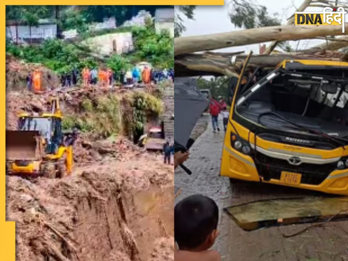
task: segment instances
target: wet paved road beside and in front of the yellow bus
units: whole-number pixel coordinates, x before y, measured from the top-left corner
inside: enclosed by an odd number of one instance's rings
[[[220,209],[220,235],[213,248],[220,252],[223,261],[348,261],[348,221],[330,222],[290,238],[282,234],[294,234],[311,224],[250,232],[239,228],[223,212],[224,207],[259,199],[299,197],[314,193],[253,182],[231,183],[227,177],[219,176],[224,132],[213,133],[209,117],[202,120],[209,121],[208,128],[192,146],[190,159],[185,163],[192,175],[187,175],[180,168],[175,171],[175,186],[182,189],[175,202],[195,193],[215,200]]]

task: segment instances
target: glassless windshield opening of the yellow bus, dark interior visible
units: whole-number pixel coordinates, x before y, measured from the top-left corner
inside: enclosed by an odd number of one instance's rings
[[[251,88],[239,95],[236,113],[255,124],[260,124],[263,114],[261,125],[271,129],[294,131],[291,122],[296,122],[332,137],[346,137],[348,78],[342,70],[340,76],[336,71],[332,73],[294,73],[280,68],[263,73]]]

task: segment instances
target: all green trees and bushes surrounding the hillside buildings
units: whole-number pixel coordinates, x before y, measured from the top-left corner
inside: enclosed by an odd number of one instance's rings
[[[113,55],[109,58],[96,60],[90,56],[91,50],[79,43],[69,43],[63,40],[46,40],[40,45],[20,46],[6,42],[6,52],[26,62],[41,63],[47,68],[65,73],[73,68],[84,66],[95,67],[105,64],[114,71],[127,70],[132,65],[147,61],[157,68],[172,68],[174,66],[173,39],[167,31],[159,34],[155,31],[152,21],[147,21],[145,27],[118,27],[97,32],[87,31],[91,22],[102,21],[104,17],[115,16],[118,23],[123,23],[136,14],[139,9],[151,11],[154,14],[158,7],[147,6],[6,6],[6,19],[26,21],[31,26],[38,24],[39,18],[56,17],[61,29],[78,29],[82,32],[81,40],[105,33],[132,32],[135,51],[126,55]]]

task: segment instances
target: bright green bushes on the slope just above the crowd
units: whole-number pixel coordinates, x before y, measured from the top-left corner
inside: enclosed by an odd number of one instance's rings
[[[127,70],[131,64],[148,61],[158,68],[174,65],[173,39],[168,32],[156,34],[153,26],[133,27],[135,51],[127,55],[113,55],[105,59],[114,71]],[[90,50],[63,40],[46,40],[40,45],[19,46],[6,42],[6,52],[30,63],[42,63],[47,68],[63,73],[72,68],[94,67],[98,61],[89,56]],[[99,62],[100,63],[100,62]]]

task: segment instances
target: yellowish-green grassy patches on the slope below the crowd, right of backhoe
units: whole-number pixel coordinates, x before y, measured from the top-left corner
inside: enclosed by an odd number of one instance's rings
[[[85,98],[80,103],[78,114],[63,118],[63,129],[77,127],[82,132],[93,133],[102,138],[117,135],[121,129],[124,134],[140,133],[141,135],[146,118],[157,117],[163,113],[161,100],[148,93],[129,93],[123,100],[125,102],[120,103],[119,97],[112,94],[93,100]],[[127,104],[132,109],[122,113]],[[125,121],[129,121],[129,129],[124,128]]]

